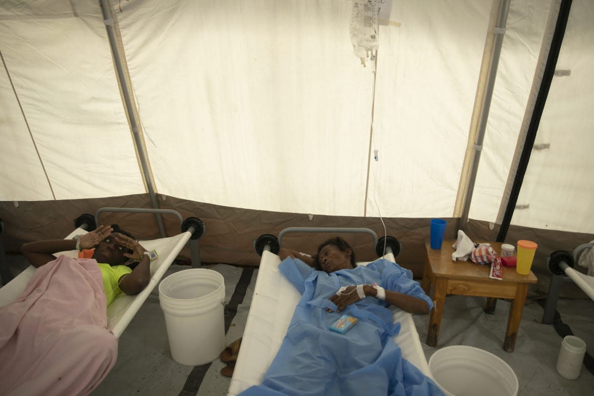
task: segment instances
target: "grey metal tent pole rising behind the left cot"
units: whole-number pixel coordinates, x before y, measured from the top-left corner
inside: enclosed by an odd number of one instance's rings
[[[124,104],[126,106],[126,111],[128,112],[130,128],[132,130],[132,135],[134,136],[134,146],[136,146],[138,158],[140,159],[140,165],[143,169],[144,181],[146,183],[147,190],[149,191],[150,203],[154,209],[159,209],[157,195],[154,192],[153,178],[149,172],[149,162],[147,161],[144,143],[140,136],[140,122],[138,122],[137,112],[135,111],[136,109],[132,100],[132,95],[128,89],[128,81],[126,72],[124,70],[124,62],[122,61],[122,57],[118,48],[118,37],[116,36],[114,21],[111,14],[111,5],[108,0],[100,0],[100,4],[101,12],[103,14],[103,23],[105,24],[105,29],[108,32],[109,48],[112,51],[113,63],[115,64],[119,86],[122,89],[122,97],[124,98]],[[167,235],[165,234],[165,225],[163,225],[163,218],[161,214],[155,213],[155,218],[157,220],[157,226],[159,227],[160,235],[162,238],[165,238]]]

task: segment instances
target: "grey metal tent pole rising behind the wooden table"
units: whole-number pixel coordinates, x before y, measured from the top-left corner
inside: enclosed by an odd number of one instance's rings
[[[464,206],[462,208],[462,215],[460,216],[460,230],[466,230],[468,222],[468,212],[470,211],[470,202],[472,201],[472,193],[475,189],[476,174],[479,169],[479,161],[481,161],[481,150],[483,140],[485,139],[486,122],[489,119],[489,109],[491,108],[491,98],[493,96],[493,89],[495,87],[495,78],[497,77],[497,67],[499,65],[499,58],[501,55],[501,45],[503,44],[503,35],[505,33],[505,24],[507,23],[507,14],[510,10],[510,0],[502,0],[499,7],[499,15],[497,17],[497,25],[495,26],[495,40],[492,49],[491,64],[489,64],[489,75],[486,82],[484,101],[481,109],[481,118],[479,120],[478,133],[476,134],[476,142],[474,146],[475,155],[472,159],[472,168],[470,169],[470,176],[468,186],[466,188],[466,196]]]

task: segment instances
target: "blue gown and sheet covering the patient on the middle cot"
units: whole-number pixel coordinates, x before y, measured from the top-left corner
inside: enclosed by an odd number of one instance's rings
[[[261,385],[242,396],[443,395],[435,382],[403,359],[391,337],[400,331],[392,323],[388,304],[366,297],[336,312],[328,298],[341,286],[373,284],[427,301],[412,272],[388,260],[326,274],[299,259],[287,257],[279,270],[292,282],[301,300],[295,307],[285,339]],[[329,307],[335,312],[326,312]],[[328,330],[342,315],[358,319],[345,334]]]

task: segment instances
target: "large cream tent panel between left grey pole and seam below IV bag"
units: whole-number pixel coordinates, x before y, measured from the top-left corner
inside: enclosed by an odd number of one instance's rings
[[[352,52],[350,4],[239,5],[122,4],[157,189],[239,208],[362,215],[372,74]]]

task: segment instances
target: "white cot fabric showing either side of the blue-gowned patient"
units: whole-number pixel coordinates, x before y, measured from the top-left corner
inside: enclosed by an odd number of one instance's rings
[[[394,262],[393,254],[386,259]],[[236,396],[264,378],[270,363],[285,338],[295,306],[301,294],[279,271],[280,257],[264,252],[252,297],[239,355],[233,370],[228,396]],[[393,340],[400,346],[402,356],[430,376],[429,365],[416,331],[412,315],[396,307],[391,308],[394,323],[400,322],[400,332]]]

